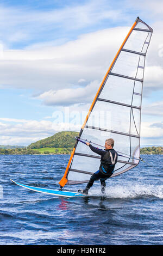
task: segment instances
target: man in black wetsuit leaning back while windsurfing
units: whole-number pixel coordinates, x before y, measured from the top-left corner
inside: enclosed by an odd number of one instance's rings
[[[94,173],[89,182],[87,183],[84,190],[79,190],[78,192],[82,192],[83,194],[88,194],[90,187],[93,185],[95,180],[101,181],[101,190],[102,193],[105,193],[105,180],[110,178],[112,173],[114,172],[115,164],[117,163],[117,153],[114,150],[114,139],[106,139],[105,141],[105,149],[98,149],[93,147],[89,142],[86,143],[90,149],[101,155],[101,164],[99,166],[99,170]]]

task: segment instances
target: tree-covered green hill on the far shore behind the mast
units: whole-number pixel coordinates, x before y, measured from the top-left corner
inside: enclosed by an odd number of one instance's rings
[[[62,148],[73,149],[76,142],[75,137],[78,136],[78,132],[58,132],[53,136],[41,139],[28,146],[28,149],[42,149],[42,148]]]

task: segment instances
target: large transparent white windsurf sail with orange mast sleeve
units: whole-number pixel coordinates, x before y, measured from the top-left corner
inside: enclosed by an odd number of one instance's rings
[[[153,29],[137,17],[92,102],[79,139],[104,145],[113,138],[120,152],[111,177],[139,164],[140,120],[145,58]],[[120,156],[123,155],[123,156]],[[124,157],[126,156],[126,157]],[[87,182],[101,157],[77,141],[59,184]]]

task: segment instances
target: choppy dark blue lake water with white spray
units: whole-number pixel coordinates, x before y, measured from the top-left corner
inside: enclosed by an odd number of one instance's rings
[[[99,181],[90,197],[62,198],[26,190],[23,184],[58,189],[68,155],[0,155],[0,245],[161,245],[162,155]],[[98,167],[97,167],[98,168]],[[77,191],[84,185],[67,186]]]

